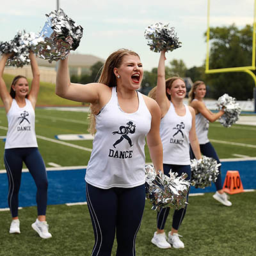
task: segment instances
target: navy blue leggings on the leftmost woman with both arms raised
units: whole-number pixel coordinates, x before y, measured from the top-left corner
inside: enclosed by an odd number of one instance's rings
[[[48,180],[44,160],[42,159],[38,148],[10,148],[4,150],[4,165],[8,175],[8,204],[12,217],[14,218],[18,216],[19,189],[23,162],[26,164],[35,180],[37,188],[37,213],[38,215],[45,215]]]

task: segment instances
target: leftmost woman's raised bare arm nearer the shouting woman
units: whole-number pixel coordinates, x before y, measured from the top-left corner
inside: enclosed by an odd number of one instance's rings
[[[36,100],[39,92],[39,87],[40,87],[40,72],[39,68],[36,62],[36,57],[33,52],[29,52],[29,59],[30,59],[30,65],[31,65],[31,70],[32,70],[32,83],[31,83],[31,88],[30,92],[28,95],[28,99],[31,101],[31,104],[33,108],[35,109],[36,106]]]

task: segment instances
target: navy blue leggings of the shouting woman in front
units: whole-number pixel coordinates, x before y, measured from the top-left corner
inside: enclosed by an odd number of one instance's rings
[[[136,235],[145,206],[145,184],[135,188],[100,189],[86,184],[86,198],[92,219],[95,244],[92,256],[133,256]]]

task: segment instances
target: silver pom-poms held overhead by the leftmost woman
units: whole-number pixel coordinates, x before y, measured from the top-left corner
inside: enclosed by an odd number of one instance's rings
[[[10,53],[13,55],[8,58],[6,65],[14,67],[23,67],[30,63],[29,52],[37,52],[37,45],[42,38],[36,33],[26,33],[25,30],[17,31],[14,38],[7,42],[0,43],[0,52]]]

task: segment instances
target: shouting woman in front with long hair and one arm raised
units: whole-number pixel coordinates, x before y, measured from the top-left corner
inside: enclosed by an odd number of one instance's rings
[[[85,177],[95,233],[92,255],[110,256],[115,232],[116,255],[135,255],[134,239],[145,205],[145,136],[156,170],[163,170],[161,111],[155,100],[137,91],[142,78],[140,57],[126,49],[108,57],[99,83],[70,83],[67,59],[58,68],[56,94],[90,102],[95,119]]]

